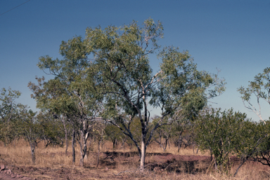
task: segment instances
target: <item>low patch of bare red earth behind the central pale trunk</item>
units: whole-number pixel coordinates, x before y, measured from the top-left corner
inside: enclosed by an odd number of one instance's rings
[[[139,166],[138,153],[103,153],[101,167],[112,167],[116,162],[122,165],[128,165],[136,162]],[[146,169],[151,172],[186,172],[195,174],[202,172],[209,167],[211,162],[210,156],[206,155],[174,155],[171,153],[147,153]],[[134,163],[135,164],[135,163]],[[200,164],[200,165],[199,165]],[[204,165],[202,167],[202,165]]]

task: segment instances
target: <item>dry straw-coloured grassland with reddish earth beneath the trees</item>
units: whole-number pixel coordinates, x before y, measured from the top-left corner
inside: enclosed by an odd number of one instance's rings
[[[76,147],[76,163],[72,164],[71,149],[49,146],[42,142],[36,151],[33,165],[30,146],[20,139],[8,146],[0,146],[0,164],[7,165],[14,173],[30,179],[270,179],[270,167],[259,162],[246,162],[236,177],[233,173],[239,162],[231,158],[227,172],[218,173],[210,166],[208,153],[194,153],[192,148],[178,149],[169,146],[162,151],[158,144],[150,144],[146,155],[146,172],[139,172],[139,155],[136,148],[113,149],[113,144],[105,141],[101,147],[97,167],[97,144],[91,144],[84,161],[79,167],[79,146]]]

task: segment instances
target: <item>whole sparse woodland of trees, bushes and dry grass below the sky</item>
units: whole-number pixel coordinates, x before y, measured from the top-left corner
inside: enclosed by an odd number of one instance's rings
[[[39,112],[16,102],[19,90],[1,90],[1,163],[33,179],[269,179],[260,102],[270,104],[270,68],[238,89],[261,118],[254,122],[213,109],[208,100],[222,95],[224,79],[199,71],[187,51],[161,47],[162,37],[152,19],[89,27],[84,39],[61,43],[63,59],[41,56],[37,66],[51,79],[28,84]],[[37,173],[20,170],[28,167]]]

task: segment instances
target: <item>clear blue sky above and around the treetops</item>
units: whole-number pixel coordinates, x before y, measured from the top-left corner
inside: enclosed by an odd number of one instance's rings
[[[23,94],[17,102],[37,110],[27,83],[36,82],[35,76],[45,76],[37,67],[39,57],[60,57],[61,41],[84,37],[86,27],[121,26],[132,20],[141,24],[151,17],[163,23],[162,46],[188,50],[200,70],[217,73],[216,68],[221,69],[226,92],[212,99],[217,103],[213,106],[233,107],[258,119],[245,109],[236,90],[240,85],[247,87],[248,81],[270,67],[269,0],[26,1],[0,0],[0,14],[4,13],[0,15],[0,88],[20,90]],[[151,64],[157,68],[155,59]],[[262,105],[266,119],[270,106]]]

